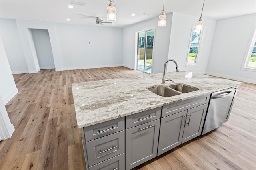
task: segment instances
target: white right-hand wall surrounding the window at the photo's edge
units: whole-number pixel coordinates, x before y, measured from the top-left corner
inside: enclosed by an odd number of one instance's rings
[[[255,71],[241,70],[255,22],[256,14],[217,21],[207,74],[256,83]]]

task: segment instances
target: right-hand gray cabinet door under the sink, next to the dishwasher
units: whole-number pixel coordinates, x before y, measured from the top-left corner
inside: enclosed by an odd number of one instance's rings
[[[185,143],[192,138],[200,136],[204,124],[207,107],[208,103],[198,107],[194,107],[192,109],[188,109],[182,143]]]

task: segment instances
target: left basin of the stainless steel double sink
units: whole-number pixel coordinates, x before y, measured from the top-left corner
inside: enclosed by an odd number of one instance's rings
[[[182,93],[179,93],[178,91],[174,91],[168,87],[163,86],[157,86],[157,87],[149,87],[147,88],[149,91],[163,97],[171,97],[175,95],[180,95]]]

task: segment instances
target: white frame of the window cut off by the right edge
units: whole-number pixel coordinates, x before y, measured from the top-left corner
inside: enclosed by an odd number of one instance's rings
[[[252,29],[252,33],[247,45],[246,53],[244,55],[244,60],[242,62],[241,70],[256,71],[256,67],[248,66],[250,62],[250,57],[252,55],[252,50],[254,47],[256,47],[255,42],[256,42],[256,22],[254,23],[254,26]]]

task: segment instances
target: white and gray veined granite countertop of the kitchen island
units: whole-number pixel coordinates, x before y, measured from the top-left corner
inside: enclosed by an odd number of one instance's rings
[[[187,72],[165,74],[164,86],[184,83],[199,90],[172,97],[158,96],[147,87],[162,85],[162,73],[72,84],[78,128],[132,115],[242,84],[238,81]]]

